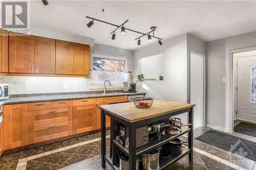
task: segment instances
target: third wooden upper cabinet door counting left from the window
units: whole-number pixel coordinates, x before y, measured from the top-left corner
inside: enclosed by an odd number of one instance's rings
[[[35,37],[34,73],[55,74],[55,41]]]

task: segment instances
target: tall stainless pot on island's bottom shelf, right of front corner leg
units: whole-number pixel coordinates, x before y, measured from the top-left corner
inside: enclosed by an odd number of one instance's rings
[[[146,170],[159,169],[159,155],[160,150],[154,149],[146,154],[143,154],[143,168]]]

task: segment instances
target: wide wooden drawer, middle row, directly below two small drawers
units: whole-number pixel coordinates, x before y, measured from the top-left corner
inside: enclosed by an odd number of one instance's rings
[[[29,127],[72,120],[72,107],[29,111]]]

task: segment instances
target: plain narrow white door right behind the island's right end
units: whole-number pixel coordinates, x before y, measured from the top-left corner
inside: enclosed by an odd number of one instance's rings
[[[204,57],[191,53],[190,58],[190,103],[194,107],[194,127],[203,126],[204,110]]]

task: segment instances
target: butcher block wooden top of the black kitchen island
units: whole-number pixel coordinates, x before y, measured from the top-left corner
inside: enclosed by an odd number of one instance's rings
[[[179,103],[165,100],[154,100],[151,108],[136,108],[133,102],[120,103],[115,105],[99,106],[102,110],[113,114],[126,122],[134,123],[140,120],[157,117],[167,113],[172,113],[188,108],[195,107],[195,104]]]

